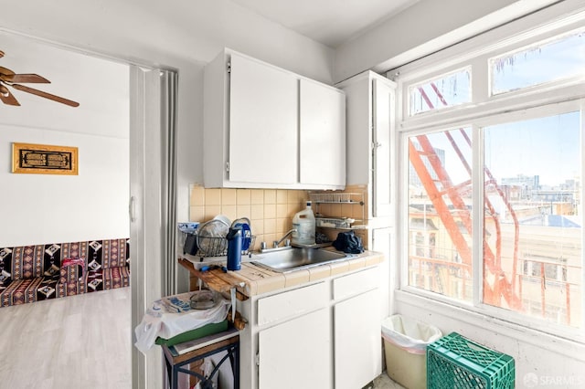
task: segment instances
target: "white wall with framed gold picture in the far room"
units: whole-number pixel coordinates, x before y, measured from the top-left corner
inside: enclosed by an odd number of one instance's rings
[[[80,102],[71,108],[13,90],[0,104],[0,247],[129,237],[128,66],[0,33],[1,65],[38,73],[31,87]],[[79,174],[11,173],[12,142],[79,148]]]

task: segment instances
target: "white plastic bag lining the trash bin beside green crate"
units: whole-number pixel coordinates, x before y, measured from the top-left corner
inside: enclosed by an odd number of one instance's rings
[[[393,315],[382,321],[382,337],[413,354],[425,353],[427,345],[441,336],[442,332],[437,327],[402,315]]]

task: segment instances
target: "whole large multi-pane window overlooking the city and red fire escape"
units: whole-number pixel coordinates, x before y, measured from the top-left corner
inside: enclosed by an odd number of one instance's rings
[[[583,39],[560,28],[444,65],[458,70],[401,69],[403,289],[584,327]]]

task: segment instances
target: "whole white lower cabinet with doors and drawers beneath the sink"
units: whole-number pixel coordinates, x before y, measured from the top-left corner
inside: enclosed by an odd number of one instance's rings
[[[356,389],[382,371],[379,266],[252,296],[241,388]]]

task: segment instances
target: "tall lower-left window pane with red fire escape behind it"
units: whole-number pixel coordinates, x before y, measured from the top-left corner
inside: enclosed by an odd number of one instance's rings
[[[472,298],[467,288],[452,288],[472,282],[470,131],[436,131],[410,136],[408,141],[410,217],[425,220],[423,230],[433,236],[433,249],[427,255],[420,250],[420,255],[410,256],[410,279],[424,275],[431,279],[430,287],[414,286],[460,300]],[[454,142],[463,147],[453,148]],[[410,223],[410,230],[417,227]]]

